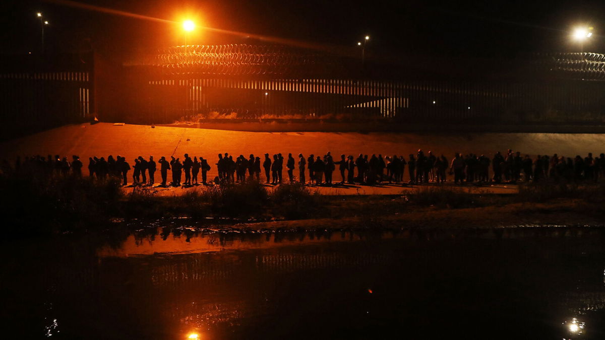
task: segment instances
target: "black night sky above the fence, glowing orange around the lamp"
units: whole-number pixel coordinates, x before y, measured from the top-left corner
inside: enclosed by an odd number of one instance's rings
[[[284,1],[284,0],[88,0],[100,7],[224,30],[354,47],[369,34],[373,53],[514,57],[518,53],[579,51],[569,39],[578,24],[595,27],[584,51],[603,53],[604,1]],[[41,11],[50,22],[48,50],[93,45],[121,57],[184,43],[178,24],[99,13],[52,1],[2,1],[3,53],[36,51]],[[258,44],[252,38],[197,30],[189,44]]]

